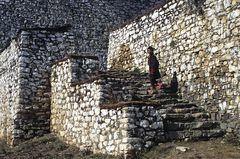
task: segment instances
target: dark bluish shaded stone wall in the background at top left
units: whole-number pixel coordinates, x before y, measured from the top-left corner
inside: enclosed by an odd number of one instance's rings
[[[160,0],[0,0],[0,50],[19,29],[72,26],[76,48],[107,53],[109,29],[141,13]]]

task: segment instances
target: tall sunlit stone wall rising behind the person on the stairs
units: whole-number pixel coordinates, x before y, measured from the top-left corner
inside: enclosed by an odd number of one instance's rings
[[[182,3],[184,4],[183,6],[188,6],[186,2]],[[219,95],[216,96],[216,93],[204,94],[204,92],[208,92],[208,88],[212,87],[215,90],[218,89],[218,91],[221,89],[221,92],[226,93],[226,90],[223,89],[225,85],[220,82],[221,76],[224,75],[227,76],[225,82],[233,88],[231,89],[232,92],[238,87],[236,82],[232,83],[233,78],[237,76],[237,72],[234,71],[237,69],[237,64],[232,64],[231,61],[239,58],[237,58],[235,53],[233,55],[231,50],[238,46],[237,37],[239,35],[239,27],[237,27],[237,25],[239,21],[239,9],[233,6],[237,5],[236,1],[221,0],[214,2],[210,0],[206,3],[206,6],[202,6],[202,12],[206,12],[203,16],[207,18],[208,21],[199,19],[197,22],[193,22],[190,19],[198,19],[198,15],[188,15],[188,13],[182,11],[182,14],[185,16],[177,18],[172,12],[163,10],[162,8],[150,14],[152,16],[153,13],[158,13],[161,19],[156,18],[153,20],[148,16],[139,19],[139,21],[135,23],[146,29],[142,31],[141,35],[136,33],[135,35],[138,35],[138,41],[145,41],[143,43],[132,40],[131,36],[134,36],[134,34],[126,37],[128,30],[125,30],[124,34],[122,34],[122,28],[111,32],[108,58],[113,59],[117,57],[119,45],[128,43],[133,50],[133,56],[136,57],[135,60],[138,61],[135,63],[136,66],[140,68],[141,71],[148,71],[146,69],[147,60],[139,59],[138,57],[146,57],[147,55],[144,51],[149,45],[152,45],[156,48],[155,54],[160,61],[160,71],[170,74],[173,72],[173,69],[176,69],[178,70],[177,73],[181,87],[191,86],[191,91],[182,92],[184,98],[189,100],[197,99],[202,106],[208,104],[211,107],[217,104],[220,107],[221,101],[224,100],[223,97]],[[185,10],[183,6],[172,8],[172,10],[174,10],[174,13],[178,12],[180,8]],[[172,17],[170,18],[169,15],[172,15]],[[165,19],[174,21],[175,23],[166,23]],[[163,26],[158,27],[161,25]],[[136,26],[137,25],[126,25],[129,30],[137,30]],[[154,40],[153,37],[156,40]],[[161,40],[159,37],[164,37],[165,40]],[[228,37],[231,37],[232,40],[229,41]],[[157,40],[158,38],[160,40]],[[146,39],[153,40],[147,42]],[[169,45],[171,45],[171,47]],[[224,61],[222,61],[223,58]],[[216,63],[214,63],[214,61],[216,61]],[[110,68],[111,63],[109,63],[109,65]],[[226,72],[229,72],[226,68],[230,68],[234,77],[226,74]],[[204,73],[202,70],[204,70]],[[213,70],[218,70],[218,73],[212,73]],[[198,80],[196,80],[196,78]],[[209,83],[209,78],[214,78],[215,82]],[[218,85],[218,88],[215,88],[216,85]],[[237,108],[238,103],[235,102],[236,97],[231,96],[230,98],[232,103],[234,103],[234,107]],[[218,102],[215,103],[215,101]],[[233,110],[232,108],[230,110],[228,107],[224,107],[224,109],[229,109],[229,111]]]

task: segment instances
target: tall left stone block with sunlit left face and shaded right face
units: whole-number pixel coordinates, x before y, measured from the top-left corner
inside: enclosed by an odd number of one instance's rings
[[[9,143],[50,132],[51,65],[73,52],[69,32],[25,30],[1,53],[1,134]]]

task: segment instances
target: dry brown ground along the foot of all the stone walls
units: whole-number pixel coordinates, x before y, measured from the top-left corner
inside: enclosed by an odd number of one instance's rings
[[[183,152],[176,148],[186,148]],[[198,142],[168,142],[138,154],[140,159],[240,159],[240,145],[212,139]],[[121,159],[67,145],[53,135],[45,135],[9,148],[0,141],[0,159]]]

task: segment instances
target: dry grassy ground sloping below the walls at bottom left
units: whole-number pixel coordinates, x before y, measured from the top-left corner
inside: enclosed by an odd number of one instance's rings
[[[49,134],[26,141],[14,148],[0,141],[0,159],[112,159],[112,156],[80,151]]]

